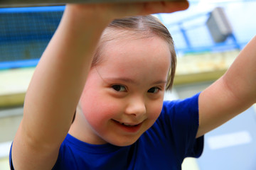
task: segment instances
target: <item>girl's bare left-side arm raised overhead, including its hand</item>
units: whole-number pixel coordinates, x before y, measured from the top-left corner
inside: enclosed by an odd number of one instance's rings
[[[66,6],[34,72],[12,147],[15,169],[52,169],[73,119],[102,30],[115,17],[174,12],[188,3]]]

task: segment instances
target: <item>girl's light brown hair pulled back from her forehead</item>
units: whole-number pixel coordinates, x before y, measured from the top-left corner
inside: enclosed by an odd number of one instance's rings
[[[123,30],[121,35],[115,30]],[[146,38],[157,35],[165,40],[171,52],[171,66],[169,68],[166,90],[171,90],[174,84],[174,74],[176,70],[176,52],[174,50],[174,40],[171,38],[169,30],[154,16],[131,16],[126,18],[117,18],[112,21],[105,31],[102,33],[100,42],[95,51],[95,56],[92,61],[92,67],[95,67],[101,61],[102,48],[104,42],[114,40],[116,38],[126,37],[127,35],[138,38]]]

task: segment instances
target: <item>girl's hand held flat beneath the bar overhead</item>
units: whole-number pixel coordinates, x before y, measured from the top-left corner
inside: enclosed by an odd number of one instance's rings
[[[97,18],[120,18],[124,16],[147,15],[152,13],[173,13],[188,8],[188,1],[158,1],[114,4],[79,4],[75,11],[82,15],[96,15]]]

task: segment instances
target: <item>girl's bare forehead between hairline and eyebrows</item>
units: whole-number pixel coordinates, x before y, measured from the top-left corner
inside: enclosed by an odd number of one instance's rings
[[[167,68],[171,64],[171,52],[167,42],[157,36],[148,38],[114,39],[106,42],[102,49],[102,61],[99,67],[109,69],[118,68],[159,69]]]

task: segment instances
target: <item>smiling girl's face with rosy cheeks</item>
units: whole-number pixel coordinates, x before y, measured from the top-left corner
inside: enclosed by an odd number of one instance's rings
[[[171,54],[157,36],[105,42],[80,99],[85,142],[132,145],[161,113]]]

